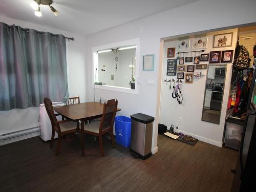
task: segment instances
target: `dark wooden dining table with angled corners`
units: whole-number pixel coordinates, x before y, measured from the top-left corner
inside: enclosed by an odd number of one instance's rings
[[[84,122],[88,120],[96,119],[102,117],[104,104],[99,102],[84,102],[78,104],[70,104],[57,106],[54,111],[71,119],[73,121],[81,121],[81,143],[82,143],[82,156],[84,156]],[[117,108],[117,111],[121,109]]]

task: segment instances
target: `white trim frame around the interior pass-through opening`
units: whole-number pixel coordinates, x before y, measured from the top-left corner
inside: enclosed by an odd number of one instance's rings
[[[105,49],[116,49],[120,47],[126,47],[126,46],[131,46],[131,45],[136,45],[136,65],[135,65],[135,79],[136,79],[136,85],[135,89],[132,90],[131,88],[123,88],[123,87],[116,87],[116,86],[99,86],[99,85],[94,85],[94,79],[96,75],[96,68],[98,70],[98,53],[97,51],[100,50],[105,50]],[[117,91],[117,92],[123,92],[123,93],[131,93],[131,94],[138,94],[139,93],[139,86],[138,86],[138,80],[139,80],[139,72],[140,72],[140,38],[134,38],[134,39],[129,39],[125,41],[119,41],[119,42],[114,42],[112,44],[107,44],[107,45],[102,45],[102,46],[97,46],[92,48],[92,59],[93,59],[93,66],[92,66],[92,88],[96,89],[102,89],[102,90],[109,90],[109,91]]]

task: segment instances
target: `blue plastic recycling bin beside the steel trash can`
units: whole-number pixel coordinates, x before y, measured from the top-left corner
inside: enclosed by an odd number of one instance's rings
[[[130,117],[115,117],[116,142],[124,147],[131,144],[131,123]]]

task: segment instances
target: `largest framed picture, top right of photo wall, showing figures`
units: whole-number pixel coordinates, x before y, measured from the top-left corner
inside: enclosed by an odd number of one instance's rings
[[[214,48],[231,47],[232,46],[232,38],[233,38],[233,32],[214,35],[214,46],[213,47]]]

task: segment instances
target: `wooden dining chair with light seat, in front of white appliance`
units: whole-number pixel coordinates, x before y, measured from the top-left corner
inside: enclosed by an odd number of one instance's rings
[[[49,98],[44,98],[44,103],[45,103],[47,114],[52,124],[52,138],[51,138],[50,148],[52,148],[54,135],[56,132],[58,134],[56,155],[58,155],[60,145],[61,145],[61,136],[79,131],[79,122],[78,121],[73,122],[70,120],[58,121],[56,116],[59,114],[54,114],[52,101]]]

